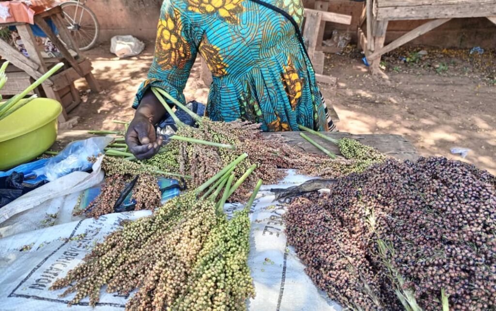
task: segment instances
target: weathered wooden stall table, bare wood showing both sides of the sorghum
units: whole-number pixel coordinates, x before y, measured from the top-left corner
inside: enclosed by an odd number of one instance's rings
[[[300,132],[280,132],[280,133],[263,133],[265,136],[270,135],[281,135],[287,139],[287,143],[291,146],[296,146],[304,152],[313,153],[313,154],[322,154],[318,149],[313,147],[310,143],[304,140],[300,136]],[[353,135],[350,133],[342,133],[342,132],[328,132],[324,133],[324,135],[332,137],[334,139],[340,139],[343,137],[353,138],[361,143],[374,147],[381,153],[392,156],[398,160],[416,160],[419,157],[417,150],[415,147],[403,138],[400,135],[392,135],[392,134],[363,134],[363,135]],[[335,153],[336,155],[340,155],[339,149],[336,145],[324,141],[319,137],[315,137],[311,134],[309,136],[315,140],[317,143],[324,146],[330,152]],[[57,137],[57,142],[52,146],[51,150],[62,150],[68,143],[94,137],[92,134],[88,134],[87,131],[79,131],[79,130],[67,130],[67,131],[59,131],[59,136]],[[323,155],[323,154],[322,154]]]

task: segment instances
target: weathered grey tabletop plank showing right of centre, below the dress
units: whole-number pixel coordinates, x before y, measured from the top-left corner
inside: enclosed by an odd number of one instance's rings
[[[399,160],[416,160],[419,157],[415,147],[407,141],[404,137],[400,135],[391,134],[367,134],[367,135],[353,135],[350,133],[343,132],[326,132],[323,133],[326,136],[332,137],[334,139],[340,139],[343,137],[352,138],[360,141],[361,143],[372,146],[376,148],[381,153],[393,156]],[[274,133],[263,133],[264,136],[274,135]],[[304,140],[300,136],[300,132],[281,132],[276,133],[276,135],[281,135],[287,139],[287,143],[291,146],[297,146],[304,152],[312,154],[322,154],[318,149],[312,146],[309,142]],[[327,142],[319,137],[310,134],[310,137],[315,140],[320,145],[324,146],[330,152],[341,155],[339,153],[339,148]]]

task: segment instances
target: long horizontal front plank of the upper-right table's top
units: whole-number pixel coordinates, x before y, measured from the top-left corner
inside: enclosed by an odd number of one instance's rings
[[[496,15],[495,3],[464,3],[424,6],[391,6],[377,11],[377,20],[487,17]]]

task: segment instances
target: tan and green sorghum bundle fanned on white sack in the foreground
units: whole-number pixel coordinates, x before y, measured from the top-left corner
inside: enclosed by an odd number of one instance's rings
[[[246,300],[254,295],[247,265],[248,210],[261,180],[244,210],[231,220],[223,213],[231,190],[240,185],[233,184],[233,168],[246,156],[152,216],[125,222],[51,289],[68,287],[62,296],[76,293],[70,304],[89,296],[91,306],[104,286],[120,294],[137,289],[126,304],[133,311],[246,310]],[[198,198],[205,190],[214,192],[209,187],[223,189],[219,202]]]

